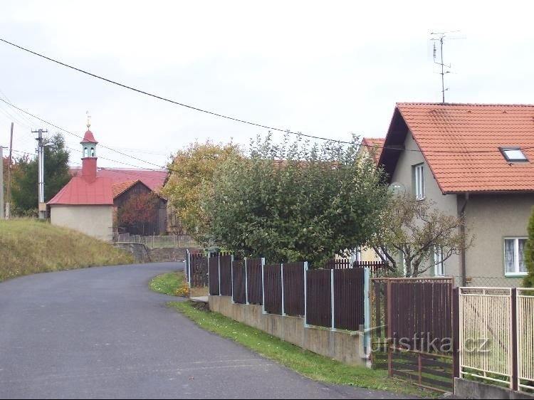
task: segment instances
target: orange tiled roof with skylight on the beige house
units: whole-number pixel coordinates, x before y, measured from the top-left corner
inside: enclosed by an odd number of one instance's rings
[[[400,144],[399,117],[443,193],[534,191],[534,105],[398,103],[386,147]],[[499,147],[520,147],[530,161],[509,163]]]

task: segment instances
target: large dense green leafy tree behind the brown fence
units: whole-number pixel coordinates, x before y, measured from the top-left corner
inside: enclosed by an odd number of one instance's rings
[[[251,143],[214,176],[204,209],[214,241],[241,256],[311,265],[367,241],[387,202],[381,169],[357,146],[310,144],[298,137]]]

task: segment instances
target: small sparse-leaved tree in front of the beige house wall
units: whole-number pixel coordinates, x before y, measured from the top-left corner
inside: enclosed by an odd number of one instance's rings
[[[377,231],[367,246],[392,273],[401,275],[404,269],[407,277],[417,277],[471,246],[472,238],[462,233],[461,225],[461,218],[444,214],[432,201],[394,195],[377,219]]]

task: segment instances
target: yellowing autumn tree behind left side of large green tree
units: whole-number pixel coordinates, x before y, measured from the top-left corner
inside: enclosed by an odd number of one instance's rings
[[[211,184],[215,169],[229,157],[239,157],[236,144],[212,142],[189,144],[169,164],[170,176],[162,189],[177,215],[177,221],[197,242],[206,245],[209,221],[201,208],[202,191]]]

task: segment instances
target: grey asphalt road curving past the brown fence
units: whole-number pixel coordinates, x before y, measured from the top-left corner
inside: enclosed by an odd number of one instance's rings
[[[182,263],[0,283],[0,399],[399,399],[320,384],[199,329],[152,293]]]

